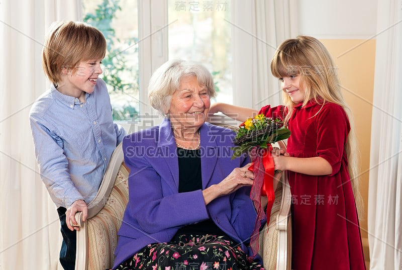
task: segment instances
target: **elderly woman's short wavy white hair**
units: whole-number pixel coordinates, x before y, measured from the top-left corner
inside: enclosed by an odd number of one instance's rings
[[[169,60],[158,67],[149,80],[149,104],[165,115],[174,91],[180,87],[180,79],[188,76],[196,76],[200,85],[207,86],[210,98],[215,97],[214,80],[204,65],[193,61]]]

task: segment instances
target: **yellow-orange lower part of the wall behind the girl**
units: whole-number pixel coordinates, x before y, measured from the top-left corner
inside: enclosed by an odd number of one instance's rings
[[[371,111],[374,87],[375,40],[321,40],[338,66],[343,94],[354,115],[360,149],[360,192],[364,216],[360,217],[361,236],[366,261],[369,260],[367,235],[368,176],[370,165]],[[352,51],[345,53],[350,48]]]

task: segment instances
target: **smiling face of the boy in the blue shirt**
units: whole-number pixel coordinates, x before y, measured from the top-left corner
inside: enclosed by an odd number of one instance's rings
[[[81,102],[84,102],[85,93],[91,94],[93,92],[96,79],[103,72],[100,67],[101,60],[81,61],[74,70],[63,68],[57,90],[64,95],[79,98]]]

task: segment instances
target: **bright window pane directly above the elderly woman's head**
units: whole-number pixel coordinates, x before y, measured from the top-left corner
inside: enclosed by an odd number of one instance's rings
[[[169,59],[194,60],[213,74],[218,102],[232,99],[230,1],[168,2]]]

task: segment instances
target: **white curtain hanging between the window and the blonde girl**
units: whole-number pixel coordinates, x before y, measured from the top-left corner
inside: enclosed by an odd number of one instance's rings
[[[297,36],[297,1],[233,2],[233,104],[254,109],[282,104],[270,64],[277,46]]]

